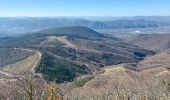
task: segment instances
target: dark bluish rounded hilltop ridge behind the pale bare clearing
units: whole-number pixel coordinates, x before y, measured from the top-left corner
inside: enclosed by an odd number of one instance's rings
[[[81,38],[102,38],[104,35],[97,33],[86,27],[61,27],[46,29],[34,33],[17,35],[15,37],[4,37],[0,40],[0,47],[19,47],[28,45],[38,45],[48,36],[76,36]],[[5,45],[4,45],[5,44]]]

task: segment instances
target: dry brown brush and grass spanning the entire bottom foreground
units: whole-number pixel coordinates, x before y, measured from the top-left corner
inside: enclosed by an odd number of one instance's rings
[[[107,74],[96,76],[83,87],[67,90],[66,85],[47,85],[39,78],[24,78],[21,81],[1,81],[0,97],[22,100],[169,100],[170,73],[158,67],[141,72],[123,67],[109,68]],[[110,71],[111,70],[111,71]],[[168,71],[168,72],[167,72]],[[30,85],[31,84],[31,85]],[[30,87],[31,86],[31,87]],[[32,92],[25,91],[28,89]],[[60,92],[59,92],[60,91]],[[62,92],[61,92],[62,91]],[[33,95],[28,95],[33,94]],[[0,98],[0,99],[1,99]],[[24,99],[25,100],[25,99]],[[30,99],[29,99],[30,100]]]

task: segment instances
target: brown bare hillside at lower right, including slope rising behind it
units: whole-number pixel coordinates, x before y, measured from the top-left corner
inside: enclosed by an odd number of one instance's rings
[[[84,86],[73,89],[66,99],[88,100],[93,97],[103,99],[167,99],[170,84],[169,51],[146,57],[136,68],[130,70],[126,64],[108,66],[105,72],[87,82]]]

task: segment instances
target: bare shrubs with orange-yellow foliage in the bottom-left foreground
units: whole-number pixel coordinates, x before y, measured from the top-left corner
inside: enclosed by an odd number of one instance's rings
[[[60,85],[25,74],[15,81],[0,81],[0,100],[63,100],[65,92]]]

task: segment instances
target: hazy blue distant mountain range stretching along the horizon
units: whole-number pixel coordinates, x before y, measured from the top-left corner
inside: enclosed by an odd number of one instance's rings
[[[169,17],[165,17],[164,20],[161,20],[161,17],[120,17],[120,19],[110,18],[110,20],[88,19],[69,17],[0,18],[0,33],[27,33],[64,26],[85,26],[92,29],[148,28],[168,25],[170,21]]]

